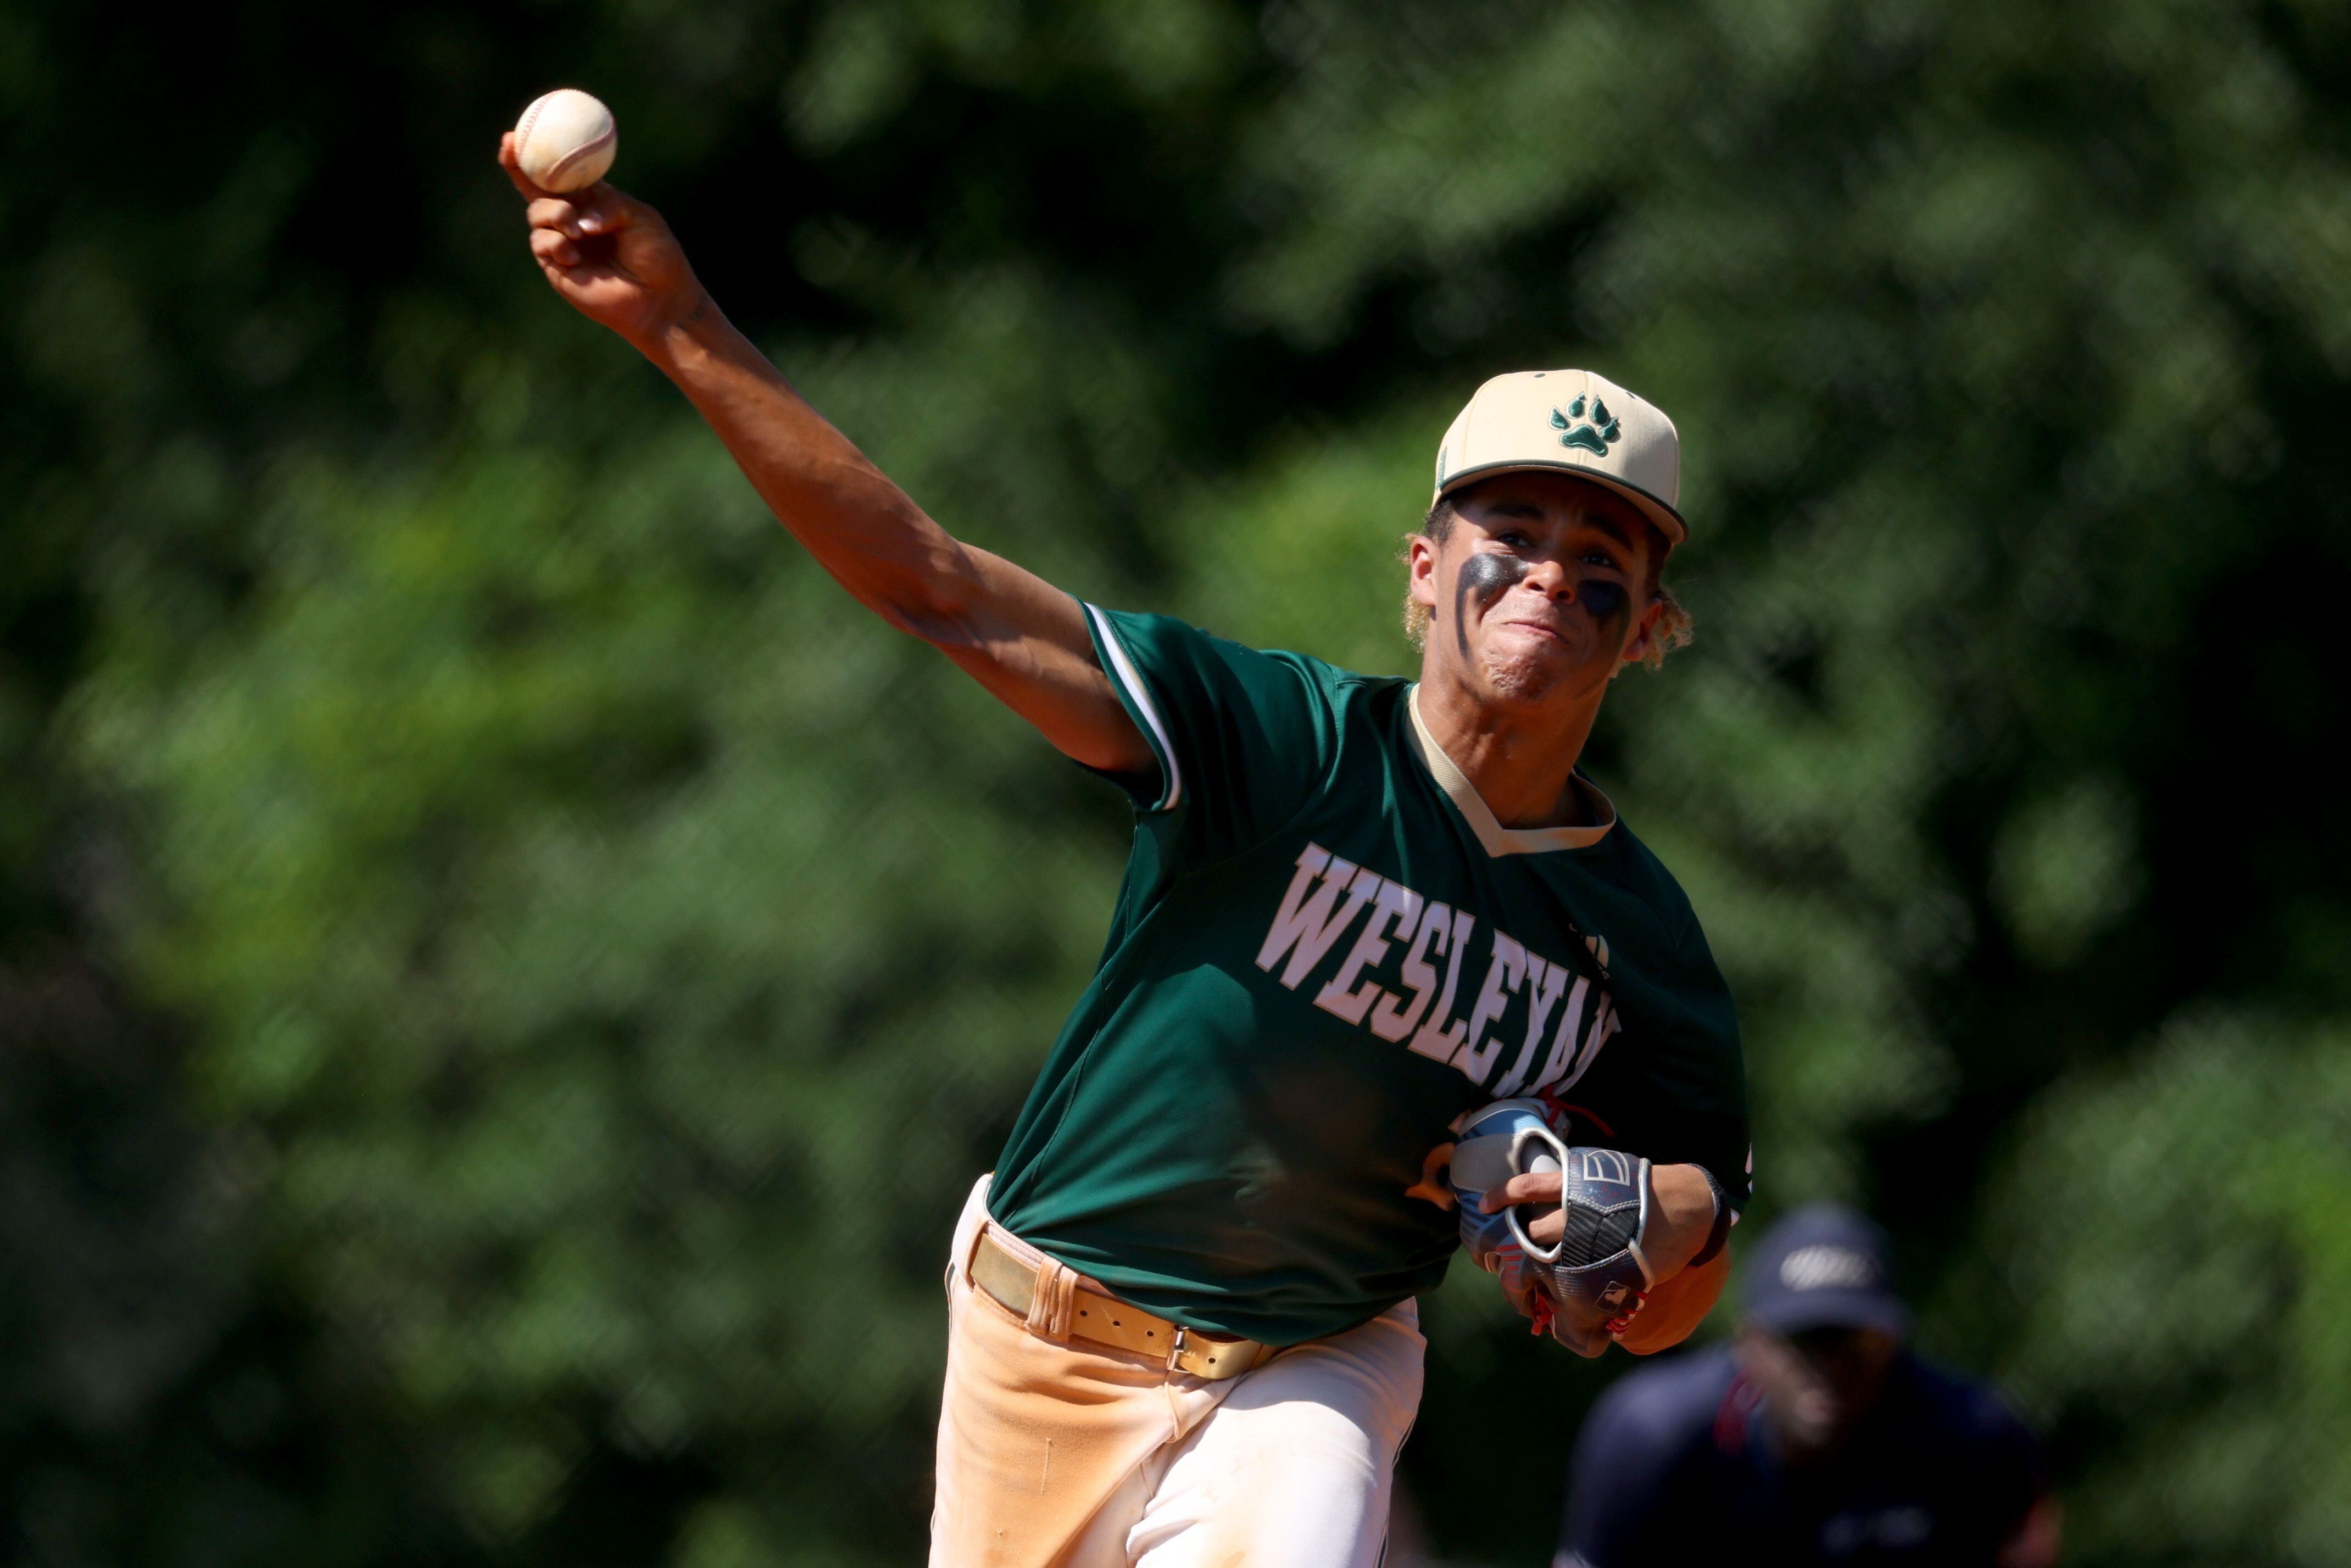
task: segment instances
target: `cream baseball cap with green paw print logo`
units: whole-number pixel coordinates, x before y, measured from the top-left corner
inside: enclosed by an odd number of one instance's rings
[[[1481,386],[1436,447],[1436,505],[1486,475],[1556,468],[1606,484],[1657,524],[1688,538],[1681,512],[1681,437],[1646,397],[1585,369],[1521,369]]]

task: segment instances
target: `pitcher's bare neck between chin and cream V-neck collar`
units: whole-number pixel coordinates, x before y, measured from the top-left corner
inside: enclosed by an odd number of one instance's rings
[[[1589,696],[1516,703],[1474,686],[1462,670],[1420,670],[1420,722],[1505,827],[1589,827],[1570,785],[1606,686]]]

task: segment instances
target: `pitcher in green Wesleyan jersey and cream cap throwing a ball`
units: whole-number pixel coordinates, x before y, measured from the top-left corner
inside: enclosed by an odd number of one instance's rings
[[[825,571],[1133,799],[1100,969],[947,1260],[933,1566],[1375,1563],[1415,1295],[1491,1213],[1566,1262],[1606,1229],[1559,1159],[1453,1213],[1455,1124],[1493,1100],[1617,1150],[1636,1194],[1608,1305],[1519,1288],[1538,1326],[1650,1352],[1704,1316],[1747,1197],[1737,1025],[1681,889],[1575,771],[1615,675],[1683,637],[1665,414],[1585,371],[1481,386],[1408,543],[1420,679],[1352,675],[952,538],[658,214],[501,162],[555,292]]]

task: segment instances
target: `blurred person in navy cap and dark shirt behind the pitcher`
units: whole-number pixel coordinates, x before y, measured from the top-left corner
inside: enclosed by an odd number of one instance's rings
[[[1914,1354],[1886,1232],[1836,1204],[1747,1265],[1733,1345],[1622,1378],[1575,1443],[1554,1568],[2057,1561],[2041,1443]]]

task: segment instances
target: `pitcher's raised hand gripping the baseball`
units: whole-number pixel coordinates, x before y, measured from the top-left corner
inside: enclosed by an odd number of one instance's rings
[[[498,162],[529,202],[531,259],[581,315],[651,353],[663,331],[708,310],[658,212],[607,181],[567,195],[541,190],[522,172],[513,132],[498,139]]]

